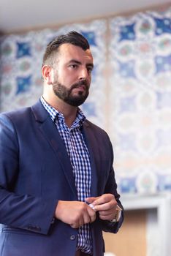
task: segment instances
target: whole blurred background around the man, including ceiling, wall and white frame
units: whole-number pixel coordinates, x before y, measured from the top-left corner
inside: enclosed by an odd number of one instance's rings
[[[47,42],[79,31],[94,55],[91,94],[82,106],[114,148],[126,210],[115,256],[171,255],[171,2],[168,0],[0,1],[0,112],[42,95]]]

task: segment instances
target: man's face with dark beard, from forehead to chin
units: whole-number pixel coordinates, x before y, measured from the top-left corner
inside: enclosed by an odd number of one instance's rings
[[[93,66],[89,49],[61,45],[53,68],[53,92],[69,105],[77,107],[83,104],[88,97]]]

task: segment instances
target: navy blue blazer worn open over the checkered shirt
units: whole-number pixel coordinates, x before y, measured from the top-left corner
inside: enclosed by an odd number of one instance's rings
[[[82,132],[91,157],[91,196],[112,193],[121,206],[107,133],[90,121]],[[1,113],[0,255],[75,256],[77,229],[52,223],[58,200],[77,200],[77,189],[56,124],[41,102]],[[94,256],[104,255],[102,230],[116,233],[122,221],[97,217],[91,224]]]

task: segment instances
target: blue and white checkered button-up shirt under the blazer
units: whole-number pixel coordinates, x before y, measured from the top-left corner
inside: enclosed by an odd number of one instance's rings
[[[72,127],[67,127],[64,115],[47,104],[43,97],[40,98],[42,105],[50,114],[50,118],[55,122],[59,134],[66,146],[66,151],[72,164],[73,175],[75,176],[75,187],[77,189],[77,199],[85,202],[86,197],[91,196],[91,164],[88,148],[80,132],[80,127],[86,117],[78,108],[77,116]],[[92,241],[90,225],[83,225],[78,229],[77,249],[81,249],[88,254],[92,253]]]

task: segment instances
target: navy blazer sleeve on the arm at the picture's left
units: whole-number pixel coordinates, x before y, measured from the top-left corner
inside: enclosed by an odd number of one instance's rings
[[[47,234],[58,201],[15,193],[20,150],[15,125],[0,114],[0,223]]]

